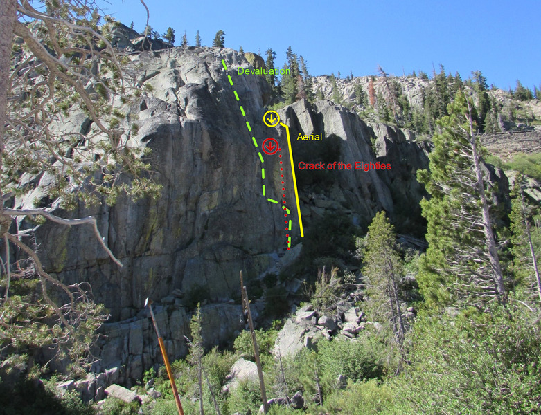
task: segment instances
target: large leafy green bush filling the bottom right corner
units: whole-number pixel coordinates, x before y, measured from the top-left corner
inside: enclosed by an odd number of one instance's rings
[[[405,412],[541,414],[541,324],[525,310],[418,317],[411,366],[393,382]]]

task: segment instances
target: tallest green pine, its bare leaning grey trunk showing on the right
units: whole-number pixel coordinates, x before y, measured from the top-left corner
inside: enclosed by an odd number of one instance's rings
[[[505,303],[472,104],[457,93],[448,111],[438,122],[442,132],[434,135],[429,171],[417,174],[431,195],[421,201],[429,248],[419,286],[431,305]]]

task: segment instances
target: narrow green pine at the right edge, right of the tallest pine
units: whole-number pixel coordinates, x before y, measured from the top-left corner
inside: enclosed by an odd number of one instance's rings
[[[517,174],[511,192],[511,253],[513,255],[513,274],[518,284],[526,286],[530,293],[536,293],[541,302],[541,277],[539,274],[539,243],[541,230],[533,226],[535,210],[524,195],[524,176]],[[522,284],[521,284],[522,283]],[[533,288],[533,289],[532,289]]]

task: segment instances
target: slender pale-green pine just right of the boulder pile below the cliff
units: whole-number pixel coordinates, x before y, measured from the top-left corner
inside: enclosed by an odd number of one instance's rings
[[[393,225],[378,212],[369,225],[364,250],[362,273],[369,279],[366,293],[375,303],[376,317],[390,322],[396,342],[405,337],[405,325],[400,311],[398,284],[403,276],[403,264],[396,250],[396,234]]]

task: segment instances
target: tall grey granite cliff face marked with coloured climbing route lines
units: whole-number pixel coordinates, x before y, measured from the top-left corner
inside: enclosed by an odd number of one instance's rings
[[[126,36],[122,42],[134,41]],[[122,39],[119,36],[118,42]],[[150,322],[142,311],[146,297],[157,302],[163,299],[163,307],[156,313],[170,360],[186,354],[183,336],[188,334],[190,315],[185,306],[190,302],[209,303],[203,311],[210,323],[204,332],[209,346],[231,338],[241,324],[240,306],[227,304],[238,297],[239,270],[250,282],[276,267],[287,252],[283,210],[267,198],[281,201],[282,194],[287,195],[287,206],[292,208],[292,250],[299,240],[288,151],[283,151],[281,159],[262,155],[262,179],[258,152],[263,139],[276,138],[285,150],[287,138],[280,125],[270,128],[262,122],[270,92],[265,79],[237,75],[238,66],[250,66],[245,57],[231,49],[196,47],[129,56],[139,71],[141,89],[150,87],[143,89],[149,92],[138,102],[123,108],[127,113],[123,122],[139,125],[139,131],[132,129],[130,145],[152,149],[149,163],[154,180],[163,186],[161,197],[132,203],[121,196],[112,207],[103,203],[94,208],[81,206],[75,212],[54,210],[67,218],[96,216],[105,243],[123,268],[112,264],[85,227],[45,223],[36,232],[46,270],[67,284],[89,282],[96,301],[109,310],[111,318],[102,329],[106,337],[96,351],[100,361],[95,369],[121,367],[121,382],[140,378],[144,370],[161,362]],[[242,116],[233,90],[246,116]],[[354,112],[326,100],[314,106],[296,102],[278,113],[281,122],[290,126],[296,165],[333,151],[336,161],[353,165],[392,164],[389,171],[322,172],[332,175],[332,180],[321,192],[310,183],[312,172],[303,172],[304,176],[297,172],[299,180],[305,181],[299,185],[299,197],[306,228],[328,211],[344,212],[355,225],[365,226],[379,210],[391,216],[411,212],[405,201],[414,203],[423,196],[414,173],[426,167],[427,148],[406,138],[404,132],[371,127]],[[91,130],[85,117],[73,114],[69,121],[66,128]],[[318,133],[323,140],[297,140],[299,134]],[[279,160],[285,166],[285,193]],[[35,178],[36,191],[46,180]],[[17,196],[12,207],[33,208],[34,200],[28,194]],[[21,218],[17,226],[33,228],[35,223]],[[306,333],[302,335],[307,338]],[[292,344],[282,353],[296,347]]]

